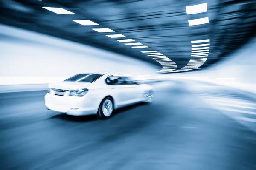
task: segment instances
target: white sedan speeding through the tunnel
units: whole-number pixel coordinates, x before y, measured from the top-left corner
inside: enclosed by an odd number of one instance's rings
[[[49,84],[45,95],[48,110],[80,116],[96,114],[100,118],[137,102],[152,102],[151,85],[138,84],[124,74],[77,74],[63,82]]]

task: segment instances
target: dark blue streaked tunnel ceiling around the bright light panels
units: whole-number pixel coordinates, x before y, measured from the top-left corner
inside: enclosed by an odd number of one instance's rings
[[[205,68],[233,53],[256,31],[254,0],[0,0],[1,23],[103,48],[151,62],[165,72],[190,71],[190,59],[207,58]],[[207,11],[187,14],[186,6],[207,3]],[[74,14],[56,14],[42,7],[64,8]],[[189,26],[188,20],[207,18],[209,23]],[[90,20],[84,26],[73,20]],[[115,32],[99,33],[93,28]],[[106,34],[122,34],[110,38]],[[131,48],[116,40],[133,39],[148,48]],[[191,58],[195,40],[209,40],[207,57]],[[140,45],[134,45],[140,46]],[[134,47],[133,46],[133,47]],[[156,61],[141,51],[157,51],[172,62]],[[156,54],[157,55],[157,54]],[[163,62],[167,64],[163,64]],[[172,67],[174,66],[175,67]],[[191,61],[190,61],[191,62]],[[162,63],[162,65],[160,65]],[[190,64],[191,65],[191,64]],[[193,65],[193,61],[192,61]],[[168,67],[170,66],[170,67]],[[171,69],[170,69],[171,68]],[[192,66],[193,68],[193,66]],[[176,70],[175,70],[176,69]],[[197,69],[195,69],[197,70]]]

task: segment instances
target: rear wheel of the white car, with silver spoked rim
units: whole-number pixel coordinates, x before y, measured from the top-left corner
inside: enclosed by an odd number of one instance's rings
[[[106,97],[102,100],[102,102],[99,105],[99,111],[97,113],[97,116],[100,119],[106,119],[111,117],[113,111],[114,111],[113,99],[111,97]]]

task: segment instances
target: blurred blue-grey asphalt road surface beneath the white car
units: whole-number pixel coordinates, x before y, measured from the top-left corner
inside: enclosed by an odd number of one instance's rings
[[[0,94],[0,169],[255,170],[255,101],[221,87],[191,87],[156,83],[153,103],[119,109],[106,120],[47,111],[46,91]],[[221,97],[232,99],[224,106],[239,116],[209,103],[223,106]],[[247,105],[232,111],[232,101]],[[234,119],[243,115],[252,121]]]

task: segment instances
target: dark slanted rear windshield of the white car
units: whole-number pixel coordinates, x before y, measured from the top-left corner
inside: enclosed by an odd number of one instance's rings
[[[101,76],[102,74],[77,74],[64,80],[64,82],[94,82]]]

